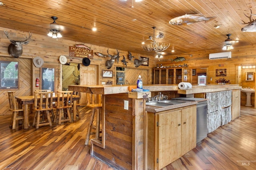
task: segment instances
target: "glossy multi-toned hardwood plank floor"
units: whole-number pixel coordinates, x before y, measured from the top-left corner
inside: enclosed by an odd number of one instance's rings
[[[80,110],[82,119],[74,123],[39,129],[21,125],[11,129],[10,115],[0,116],[0,169],[114,170],[90,156],[90,145],[84,145],[90,110]],[[238,119],[208,134],[196,148],[163,168],[179,169],[255,170],[256,109],[241,106]]]

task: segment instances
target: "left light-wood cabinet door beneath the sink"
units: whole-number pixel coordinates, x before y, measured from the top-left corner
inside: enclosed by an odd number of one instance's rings
[[[181,110],[158,115],[158,169],[181,155]]]

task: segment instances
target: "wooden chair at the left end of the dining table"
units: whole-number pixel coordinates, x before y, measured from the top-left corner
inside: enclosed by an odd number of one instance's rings
[[[16,100],[15,100],[15,92],[8,92],[10,111],[12,111],[12,119],[10,122],[10,127],[12,129],[16,129],[16,121],[22,120],[22,124],[24,123],[24,109],[16,108]]]

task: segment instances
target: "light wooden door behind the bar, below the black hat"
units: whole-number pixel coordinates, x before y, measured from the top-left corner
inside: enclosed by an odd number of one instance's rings
[[[80,64],[80,85],[98,84],[98,66],[90,64],[84,66]],[[86,93],[81,94],[81,106],[86,106]]]

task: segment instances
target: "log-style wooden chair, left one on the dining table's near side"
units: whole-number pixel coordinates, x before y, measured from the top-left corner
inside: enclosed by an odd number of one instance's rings
[[[34,121],[33,121],[33,126],[36,126],[36,129],[39,128],[39,126],[44,126],[44,125],[50,125],[52,126],[52,120],[50,118],[50,110],[52,110],[52,94],[53,92],[39,92],[35,91],[34,92],[34,111],[35,111],[35,116],[34,116]],[[40,115],[42,113],[42,120],[40,121]],[[44,119],[43,114],[46,114],[46,117],[48,121]]]

